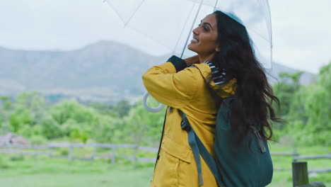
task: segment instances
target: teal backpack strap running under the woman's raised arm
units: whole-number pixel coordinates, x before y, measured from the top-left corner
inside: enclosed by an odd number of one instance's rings
[[[204,147],[204,144],[199,139],[197,134],[195,134],[194,130],[192,129],[189,121],[186,118],[185,113],[180,111],[182,113],[182,123],[181,127],[182,130],[187,131],[188,135],[188,142],[190,144],[190,147],[192,149],[195,162],[197,163],[197,170],[198,170],[198,179],[199,179],[199,186],[202,186],[203,180],[202,180],[202,169],[201,169],[201,161],[199,155],[201,154],[202,158],[204,159],[204,162],[206,162],[207,166],[209,166],[209,169],[211,173],[214,175],[216,182],[219,184],[219,186],[225,186],[223,184],[223,180],[221,179],[221,176],[219,175],[219,170],[216,167],[216,162],[213,157],[211,157],[211,154],[209,154],[206,147]]]

